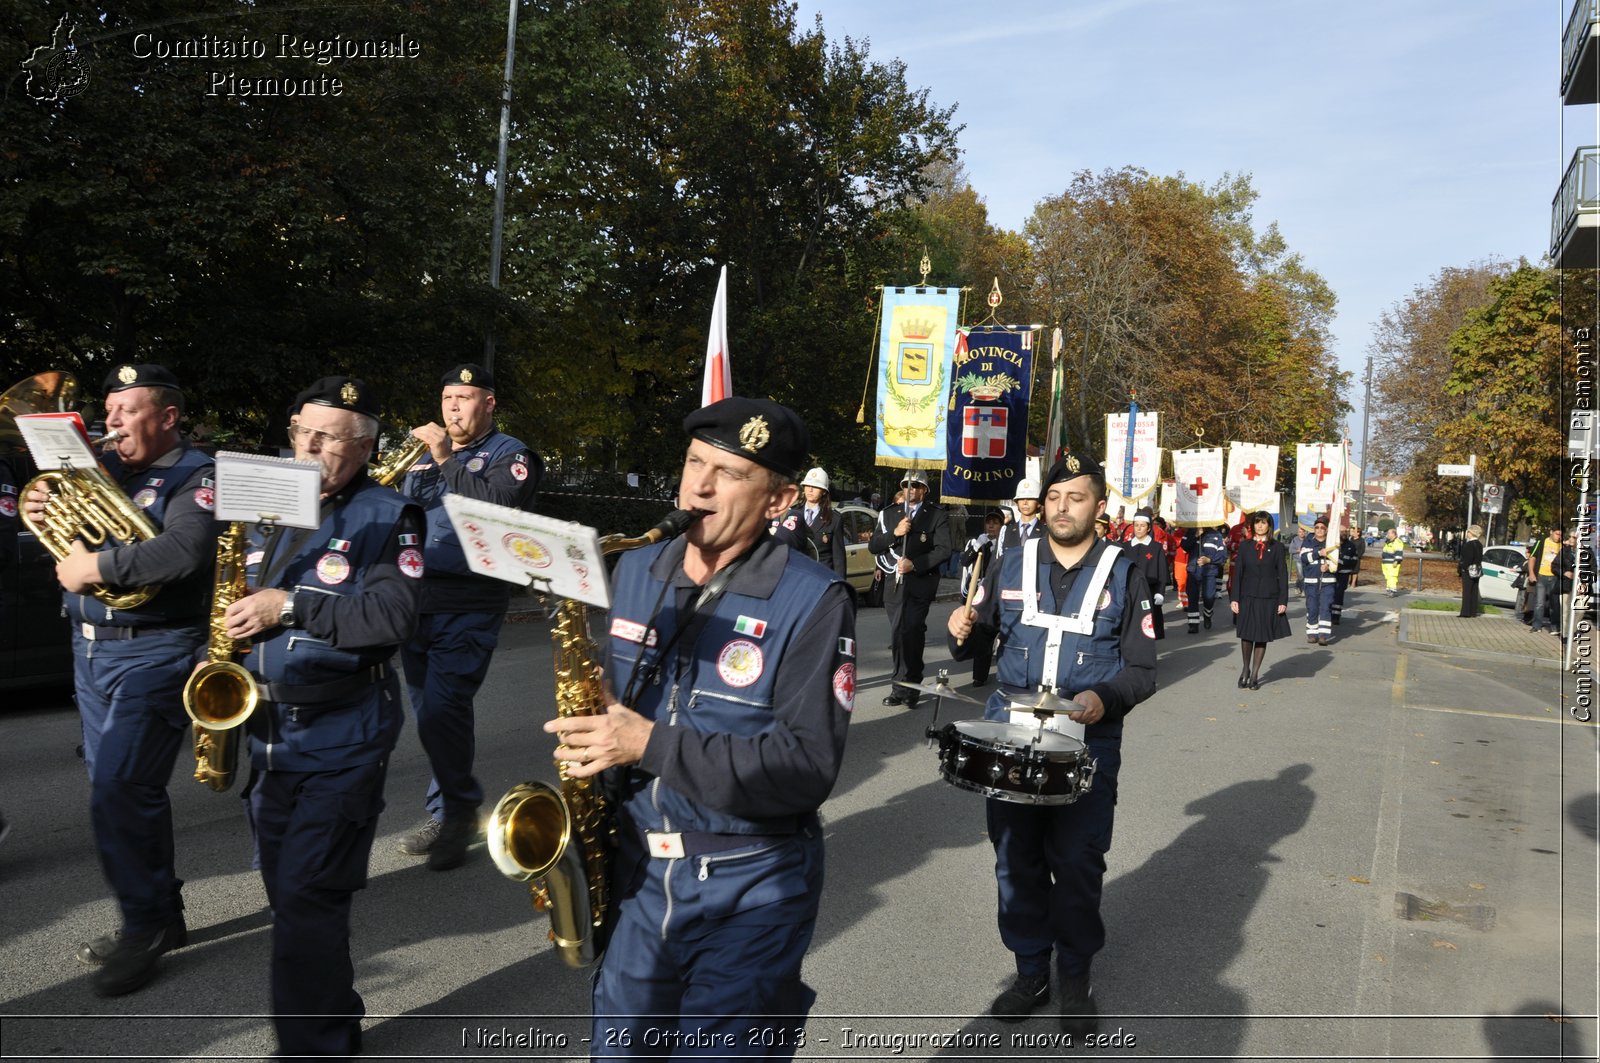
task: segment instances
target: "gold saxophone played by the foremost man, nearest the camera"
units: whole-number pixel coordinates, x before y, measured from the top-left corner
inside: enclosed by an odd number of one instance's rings
[[[602,554],[619,554],[682,535],[701,514],[677,509],[635,540],[608,535]],[[600,648],[589,636],[589,607],[563,599],[550,628],[555,650],[555,714],[598,716],[606,696]],[[587,967],[600,954],[597,932],[611,908],[606,860],[616,837],[616,815],[598,778],[570,778],[555,762],[560,786],[518,783],[494,805],[488,848],[509,879],[530,882],[534,911],[550,916],[550,941],[568,967]]]

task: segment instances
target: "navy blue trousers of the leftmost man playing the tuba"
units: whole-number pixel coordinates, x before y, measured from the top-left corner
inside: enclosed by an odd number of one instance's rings
[[[94,848],[126,933],[163,927],[184,908],[166,784],[189,735],[182,688],[200,645],[197,631],[109,642],[72,634]]]

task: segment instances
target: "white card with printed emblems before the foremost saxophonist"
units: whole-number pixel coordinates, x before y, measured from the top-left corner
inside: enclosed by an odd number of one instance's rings
[[[472,572],[522,586],[538,581],[546,594],[611,608],[594,528],[462,495],[445,495],[445,512]]]

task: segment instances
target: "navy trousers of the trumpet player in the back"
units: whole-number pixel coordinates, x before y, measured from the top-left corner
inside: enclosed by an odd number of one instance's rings
[[[483,804],[483,788],[472,775],[472,698],[488,676],[502,623],[504,612],[424,613],[400,648],[416,733],[434,768],[424,800],[435,820],[472,815]]]

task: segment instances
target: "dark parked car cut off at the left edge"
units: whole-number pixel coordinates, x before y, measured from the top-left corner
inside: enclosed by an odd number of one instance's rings
[[[72,639],[56,559],[30,532],[6,540],[0,540],[0,687],[70,685]]]

